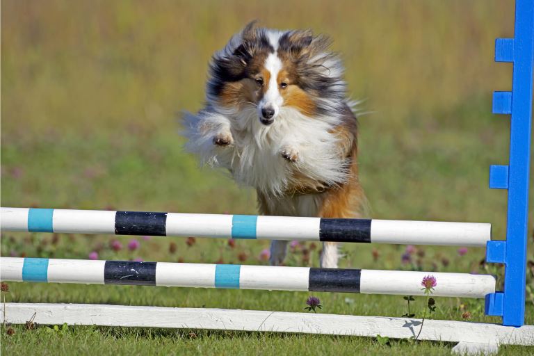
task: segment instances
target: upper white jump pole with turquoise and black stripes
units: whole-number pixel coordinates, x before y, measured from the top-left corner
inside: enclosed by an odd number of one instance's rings
[[[1,208],[1,231],[484,246],[492,225],[432,221]]]

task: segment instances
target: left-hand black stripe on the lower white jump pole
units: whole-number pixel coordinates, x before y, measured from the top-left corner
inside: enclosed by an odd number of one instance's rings
[[[157,262],[106,261],[104,284],[156,285]]]

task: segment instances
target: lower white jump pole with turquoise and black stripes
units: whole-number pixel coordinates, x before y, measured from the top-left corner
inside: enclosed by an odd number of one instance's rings
[[[79,284],[130,284],[277,291],[328,291],[422,296],[421,280],[433,275],[432,294],[485,298],[495,277],[468,273],[358,270],[229,264],[93,261],[1,257],[1,280]]]

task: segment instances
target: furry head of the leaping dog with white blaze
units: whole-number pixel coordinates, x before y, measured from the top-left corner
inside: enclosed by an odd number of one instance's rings
[[[261,29],[252,22],[213,56],[208,100],[225,110],[255,108],[265,125],[286,107],[309,117],[342,111],[343,67],[329,46],[309,30]]]

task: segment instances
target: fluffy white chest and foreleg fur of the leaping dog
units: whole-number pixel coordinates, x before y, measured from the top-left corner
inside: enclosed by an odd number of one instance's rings
[[[339,120],[308,118],[293,108],[282,108],[275,122],[265,126],[252,108],[230,115],[201,113],[186,132],[187,147],[201,154],[203,161],[231,170],[239,184],[280,196],[302,177],[327,185],[346,181],[347,162],[339,152],[339,138],[332,133]],[[232,145],[213,145],[216,131],[231,133]],[[298,160],[284,159],[284,149],[297,152]]]

